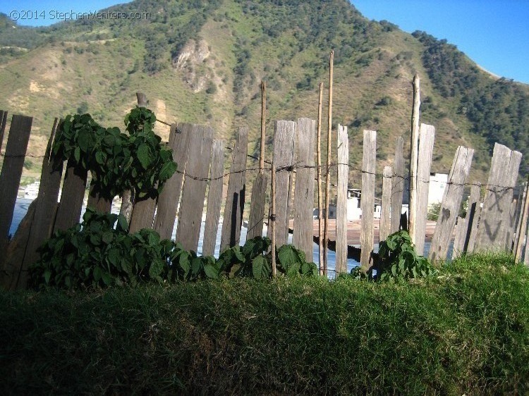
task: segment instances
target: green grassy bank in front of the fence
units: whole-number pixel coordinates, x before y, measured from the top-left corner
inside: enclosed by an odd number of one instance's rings
[[[497,395],[529,391],[529,271],[1,292],[8,394]]]

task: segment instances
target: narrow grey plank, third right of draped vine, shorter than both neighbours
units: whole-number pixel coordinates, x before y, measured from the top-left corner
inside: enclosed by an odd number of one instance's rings
[[[212,256],[215,252],[217,242],[217,231],[219,230],[219,218],[222,202],[222,187],[224,175],[224,142],[214,140],[212,148],[211,170],[209,171],[209,190],[207,191],[207,212],[204,228],[204,242],[202,243],[202,255]],[[262,225],[261,225],[262,227]]]

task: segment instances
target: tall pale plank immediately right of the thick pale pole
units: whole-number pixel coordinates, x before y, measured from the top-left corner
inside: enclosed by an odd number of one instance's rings
[[[422,256],[425,250],[426,219],[428,216],[428,189],[430,186],[430,168],[434,149],[435,128],[432,125],[420,125],[419,160],[416,180],[415,207],[415,252]]]

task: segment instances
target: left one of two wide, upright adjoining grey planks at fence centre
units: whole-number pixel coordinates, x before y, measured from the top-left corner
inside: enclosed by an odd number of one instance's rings
[[[276,169],[274,188],[276,190],[275,228],[277,247],[281,247],[287,242],[284,230],[288,225],[288,182],[293,163],[293,144],[296,127],[297,125],[294,121],[278,120],[274,123],[273,163]]]

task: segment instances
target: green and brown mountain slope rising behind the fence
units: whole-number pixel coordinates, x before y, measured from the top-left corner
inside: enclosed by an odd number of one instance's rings
[[[228,144],[248,125],[258,155],[260,81],[270,142],[271,120],[317,118],[334,49],[333,123],[349,127],[351,185],[360,185],[362,130],[378,131],[377,173],[391,164],[395,138],[408,142],[415,73],[421,121],[436,127],[432,171],[447,173],[460,144],[476,150],[473,180],[486,181],[494,142],[529,164],[528,85],[490,75],[446,40],[367,20],[346,0],[136,0],[104,11],[39,28],[0,16],[0,109],[34,116],[30,154],[68,113],[122,128],[141,91],[159,119],[207,123]],[[139,18],[121,18],[130,12]],[[28,159],[26,174],[39,165]]]

